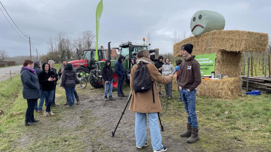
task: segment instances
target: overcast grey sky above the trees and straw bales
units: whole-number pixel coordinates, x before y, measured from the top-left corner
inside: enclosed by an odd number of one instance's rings
[[[19,29],[30,35],[33,47],[40,54],[47,52],[48,38],[58,32],[65,32],[72,38],[85,30],[96,34],[95,13],[100,0],[0,1]],[[103,0],[103,5],[99,45],[105,48],[108,42],[112,42],[111,47],[118,47],[128,40],[143,43],[142,38],[150,32],[153,38],[151,48],[159,48],[162,53],[172,52],[173,33],[186,32],[189,36],[190,19],[198,10],[221,13],[226,21],[226,30],[263,32],[268,33],[269,38],[271,36],[270,0]],[[1,5],[0,8],[4,12]],[[29,43],[14,31],[0,11],[2,49],[9,56],[29,55]],[[33,54],[36,52],[32,50]]]

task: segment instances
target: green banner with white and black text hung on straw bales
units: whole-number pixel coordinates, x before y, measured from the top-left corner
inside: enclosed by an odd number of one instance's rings
[[[216,53],[196,55],[195,59],[199,62],[201,76],[211,75],[211,72],[215,71],[215,55]]]

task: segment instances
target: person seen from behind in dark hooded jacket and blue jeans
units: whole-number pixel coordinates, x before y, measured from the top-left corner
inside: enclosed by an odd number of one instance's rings
[[[74,89],[75,89],[75,79],[76,79],[76,72],[73,69],[71,63],[67,63],[65,65],[64,71],[61,77],[61,87],[65,88],[66,96],[69,99],[69,105],[66,108],[73,108],[74,107]]]

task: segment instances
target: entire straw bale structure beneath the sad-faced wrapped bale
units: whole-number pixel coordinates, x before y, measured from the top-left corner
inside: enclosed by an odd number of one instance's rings
[[[229,78],[202,80],[197,94],[224,99],[236,97],[242,86],[242,52],[264,52],[268,45],[268,34],[239,30],[211,31],[174,44],[173,55],[182,56],[181,47],[186,43],[194,45],[192,55],[208,54],[209,40],[210,53],[216,53],[215,73],[227,75]],[[173,89],[178,89],[174,85],[177,84],[173,82]]]

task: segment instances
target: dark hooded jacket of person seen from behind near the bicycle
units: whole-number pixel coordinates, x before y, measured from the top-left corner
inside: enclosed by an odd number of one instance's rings
[[[75,87],[76,72],[71,63],[67,63],[62,73],[61,87]]]

